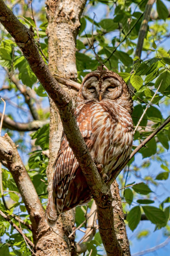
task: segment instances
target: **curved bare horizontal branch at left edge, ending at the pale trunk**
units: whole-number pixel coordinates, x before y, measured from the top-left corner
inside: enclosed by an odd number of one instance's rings
[[[0,120],[1,120],[1,117],[2,117],[2,113],[0,113]],[[14,131],[37,131],[43,125],[46,125],[48,123],[49,123],[49,120],[35,120],[28,123],[20,123],[20,122],[15,122],[11,118],[9,118],[7,115],[5,115],[3,119],[3,128],[8,128]]]

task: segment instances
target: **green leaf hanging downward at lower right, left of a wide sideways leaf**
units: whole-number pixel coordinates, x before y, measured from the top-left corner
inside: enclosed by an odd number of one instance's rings
[[[136,229],[141,219],[141,209],[139,206],[133,207],[127,214],[127,221],[130,229],[133,231]]]

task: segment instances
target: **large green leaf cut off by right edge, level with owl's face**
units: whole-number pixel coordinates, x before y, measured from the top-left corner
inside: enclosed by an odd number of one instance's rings
[[[155,88],[158,88],[159,84],[161,84],[159,91],[164,93],[164,90],[170,85],[170,72],[168,70],[161,73],[156,79]]]

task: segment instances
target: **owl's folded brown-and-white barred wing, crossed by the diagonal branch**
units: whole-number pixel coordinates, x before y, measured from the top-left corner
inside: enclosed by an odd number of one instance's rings
[[[79,126],[82,137],[84,138],[88,148],[91,147],[91,115],[88,113],[88,111],[89,105],[93,104],[94,102],[88,102],[87,104],[82,105],[80,108],[77,108],[75,111],[77,125]],[[75,191],[77,194],[81,194],[82,192],[82,188],[80,187],[81,181],[79,182],[77,178],[75,179],[77,172],[79,173],[79,175],[77,175],[79,176],[78,178],[81,176],[81,178],[84,180],[83,188],[87,186],[85,177],[79,168],[79,163],[77,162],[77,159],[74,156],[74,153],[70,148],[64,133],[62,134],[61,144],[54,163],[54,168],[53,189],[46,209],[46,218],[48,219],[48,224],[56,221],[61,212],[73,208],[74,201],[75,204],[77,203],[77,199],[73,198],[73,195],[70,194],[66,197],[66,195],[70,193],[68,190],[73,179],[74,184],[71,185],[71,190],[74,191],[76,189]],[[67,198],[70,198],[70,201],[66,202],[66,200],[68,200]]]

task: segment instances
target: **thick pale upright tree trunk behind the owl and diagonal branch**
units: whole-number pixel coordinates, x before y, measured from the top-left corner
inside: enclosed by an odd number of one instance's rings
[[[65,1],[47,1],[47,18],[48,18],[48,57],[49,69],[52,74],[68,79],[77,79],[76,68],[76,36],[80,26],[79,17],[84,9],[85,0],[65,0]],[[68,61],[69,60],[69,61]],[[73,98],[76,96],[75,90],[64,88]],[[60,137],[62,133],[62,124],[60,122],[59,113],[54,105],[50,102],[50,136],[49,136],[49,164],[47,169],[48,192],[52,188],[53,164],[57,157],[57,151],[60,145]],[[75,210],[72,209],[59,217],[54,229],[59,236],[51,237],[54,240],[52,250],[56,252],[54,255],[69,256],[75,254],[76,247],[74,236],[68,239],[69,234],[74,227]],[[56,250],[56,248],[59,248]]]

